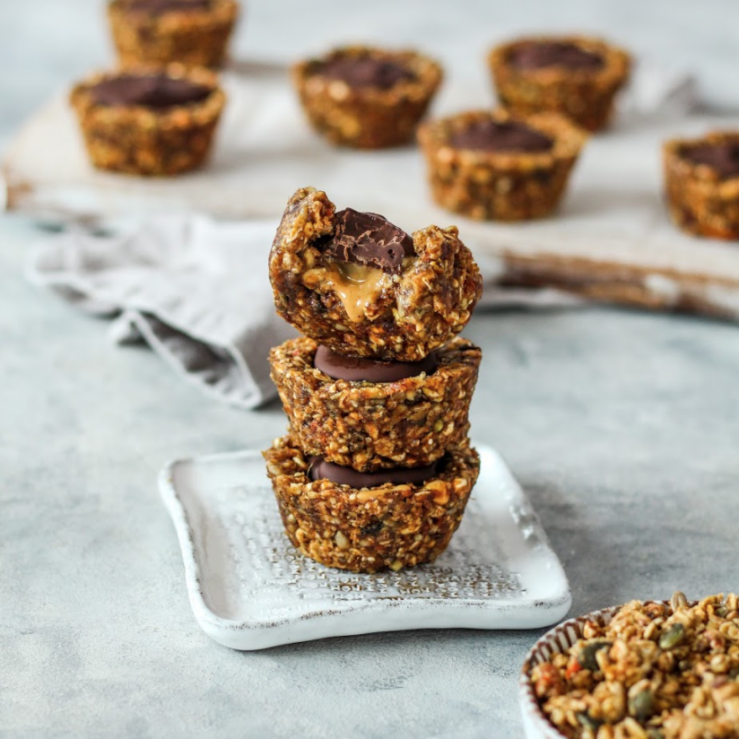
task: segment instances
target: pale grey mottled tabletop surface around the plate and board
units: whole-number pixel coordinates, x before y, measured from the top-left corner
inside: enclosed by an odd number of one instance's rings
[[[694,69],[712,107],[739,106],[732,0],[259,0],[235,50],[412,43],[450,83],[477,79],[485,105],[486,48],[524,29],[601,32]],[[99,2],[0,0],[0,141],[109,59]],[[516,677],[536,633],[239,654],[199,631],[157,471],[264,445],[282,412],[222,407],[150,352],[107,343],[103,323],[23,281],[37,237],[0,221],[0,736],[520,736]],[[736,326],[592,308],[478,315],[467,335],[485,352],[474,434],[531,496],[574,613],[739,589]]]

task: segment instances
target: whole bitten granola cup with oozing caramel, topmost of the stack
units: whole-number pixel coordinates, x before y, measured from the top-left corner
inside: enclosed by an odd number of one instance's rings
[[[482,278],[455,227],[411,238],[381,216],[336,212],[326,193],[290,198],[269,257],[277,312],[351,356],[418,361],[458,334]]]

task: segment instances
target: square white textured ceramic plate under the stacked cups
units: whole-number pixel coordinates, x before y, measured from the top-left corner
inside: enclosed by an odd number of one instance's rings
[[[159,487],[177,530],[195,618],[217,642],[263,649],[403,629],[528,629],[561,620],[567,578],[500,456],[482,468],[459,531],[433,564],[357,575],[303,557],[285,536],[259,452],[172,462]]]

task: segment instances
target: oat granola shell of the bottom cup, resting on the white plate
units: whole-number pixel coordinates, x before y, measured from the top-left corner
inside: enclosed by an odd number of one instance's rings
[[[480,468],[465,443],[424,483],[353,489],[312,481],[291,434],[264,457],[293,545],[321,564],[353,572],[398,571],[436,559],[459,526]]]

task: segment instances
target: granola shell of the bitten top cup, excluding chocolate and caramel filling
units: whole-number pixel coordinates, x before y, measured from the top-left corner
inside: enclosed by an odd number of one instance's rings
[[[456,227],[416,231],[412,264],[385,275],[376,298],[353,320],[317,246],[333,232],[335,212],[320,190],[303,188],[290,198],[269,257],[279,315],[338,354],[387,361],[419,361],[462,331],[482,278]]]

